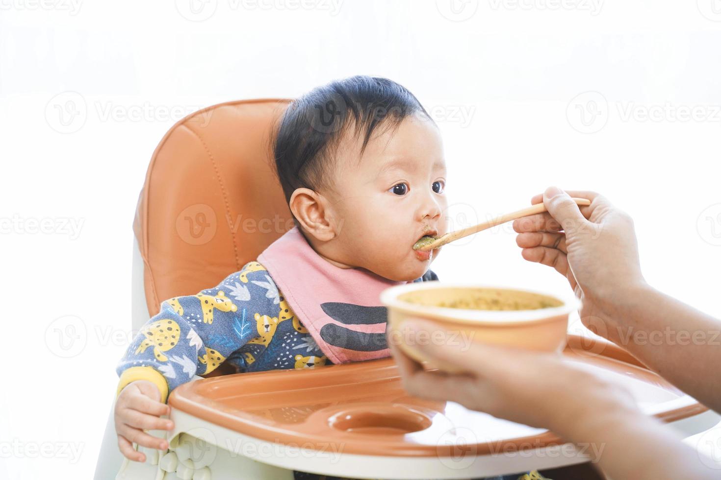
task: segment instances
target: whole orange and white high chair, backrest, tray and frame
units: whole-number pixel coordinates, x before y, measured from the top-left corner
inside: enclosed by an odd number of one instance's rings
[[[272,126],[287,104],[218,104],[182,119],[163,137],[133,222],[133,331],[165,299],[215,286],[293,227],[270,155]],[[626,385],[649,415],[686,436],[717,422],[616,345],[570,335],[565,354]],[[143,449],[146,463],[120,455],[111,409],[95,479],[290,480],[293,469],[463,479],[588,461],[546,430],[410,397],[390,358],[196,377],[174,390],[169,404],[170,448]]]

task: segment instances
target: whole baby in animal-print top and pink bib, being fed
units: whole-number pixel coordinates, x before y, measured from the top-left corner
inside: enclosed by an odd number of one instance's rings
[[[410,91],[367,76],[314,89],[283,114],[274,154],[296,226],[213,289],[163,302],[118,364],[115,428],[131,460],[145,459],[132,443],[168,447],[143,430],[170,430],[169,393],[221,363],[250,372],[390,356],[380,292],[437,280],[439,250],[412,245],[446,233],[443,144]]]

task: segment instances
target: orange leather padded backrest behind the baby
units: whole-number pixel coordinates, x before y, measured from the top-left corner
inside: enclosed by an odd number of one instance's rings
[[[216,286],[293,227],[273,127],[288,100],[234,101],[177,122],[153,153],[133,230],[149,314]]]

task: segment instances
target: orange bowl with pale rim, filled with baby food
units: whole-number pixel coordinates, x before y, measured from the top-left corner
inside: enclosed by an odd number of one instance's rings
[[[381,293],[388,308],[388,341],[417,361],[427,362],[404,332],[405,320],[438,325],[425,341],[461,345],[490,343],[525,350],[559,352],[566,345],[569,315],[580,308],[575,296],[496,286],[424,281],[394,286]],[[417,340],[421,341],[421,340]],[[456,366],[433,366],[460,371]]]

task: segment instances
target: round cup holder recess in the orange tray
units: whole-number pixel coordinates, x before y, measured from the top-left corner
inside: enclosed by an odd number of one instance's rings
[[[329,418],[336,430],[373,435],[404,435],[420,432],[433,422],[415,409],[399,405],[371,409],[346,409]]]

